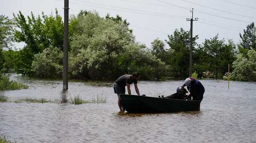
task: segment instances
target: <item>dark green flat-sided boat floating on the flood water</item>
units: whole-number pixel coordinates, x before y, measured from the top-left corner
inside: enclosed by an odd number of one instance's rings
[[[157,113],[200,111],[201,101],[166,99],[139,95],[118,95],[123,108],[129,113]]]

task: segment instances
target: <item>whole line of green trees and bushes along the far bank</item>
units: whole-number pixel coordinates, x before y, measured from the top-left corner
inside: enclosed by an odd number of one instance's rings
[[[61,78],[63,21],[55,15],[25,17],[22,12],[9,19],[0,15],[0,69],[41,78]],[[137,71],[141,78],[187,77],[190,32],[175,29],[165,41],[155,39],[151,47],[136,42],[130,23],[122,17],[100,17],[95,11],[81,11],[69,19],[69,75],[71,78],[114,79]],[[226,78],[231,65],[232,80],[256,80],[256,28],[248,24],[241,42],[193,40],[193,71],[199,78]],[[14,50],[12,42],[26,46]],[[165,48],[169,45],[170,48]]]

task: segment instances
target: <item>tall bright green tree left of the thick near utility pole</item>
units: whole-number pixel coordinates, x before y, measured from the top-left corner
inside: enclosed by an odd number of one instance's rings
[[[15,70],[24,75],[31,75],[34,54],[41,53],[50,46],[63,49],[63,22],[57,10],[55,17],[44,15],[43,12],[42,18],[40,15],[35,17],[31,12],[31,16],[28,16],[27,20],[20,11],[17,15],[13,15],[18,27],[15,30],[14,39],[16,42],[26,43],[26,47],[21,50],[18,57],[22,63],[16,66]]]

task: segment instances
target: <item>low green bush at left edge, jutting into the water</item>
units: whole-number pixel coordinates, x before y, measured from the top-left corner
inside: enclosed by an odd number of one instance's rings
[[[27,89],[28,86],[18,83],[17,81],[10,81],[11,74],[5,75],[0,73],[0,90],[18,90]]]

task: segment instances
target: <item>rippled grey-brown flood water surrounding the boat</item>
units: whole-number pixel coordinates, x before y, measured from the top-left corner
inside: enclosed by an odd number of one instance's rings
[[[12,75],[29,89],[1,91],[10,101],[19,98],[61,100],[63,95],[91,99],[108,97],[106,104],[0,102],[0,133],[19,143],[170,143],[255,142],[256,83],[200,80],[205,87],[201,111],[129,114],[119,112],[113,82],[38,80]],[[141,94],[170,95],[183,81],[138,81]],[[135,94],[134,87],[131,87]],[[126,91],[127,93],[127,91]]]

